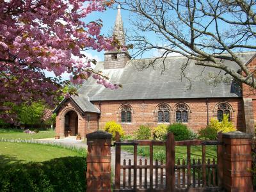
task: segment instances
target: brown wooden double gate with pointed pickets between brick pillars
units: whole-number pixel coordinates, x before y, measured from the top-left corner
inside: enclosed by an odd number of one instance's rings
[[[121,147],[132,145],[133,159],[122,159]],[[202,146],[202,159],[191,159],[191,146]],[[217,145],[217,159],[206,159],[206,145]],[[220,191],[222,173],[221,134],[218,141],[120,141],[116,134],[114,191]],[[149,146],[148,159],[138,159],[138,146]],[[154,161],[154,146],[165,146],[166,163]],[[175,159],[175,146],[186,146],[186,159]]]

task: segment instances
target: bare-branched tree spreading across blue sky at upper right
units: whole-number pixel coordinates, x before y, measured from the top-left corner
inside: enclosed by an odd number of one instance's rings
[[[256,50],[255,1],[116,2],[132,13],[130,19],[136,33],[128,38],[134,42],[134,57],[141,58],[149,50],[156,49],[159,59],[170,54],[183,55],[188,60],[196,60],[197,66],[223,70],[223,73],[217,72],[210,77],[208,82],[212,84],[218,81],[231,83],[234,79],[237,85],[245,83],[252,90],[256,88],[255,71],[249,65],[244,66],[241,54],[237,54]],[[154,61],[145,63],[145,67],[154,65]],[[228,64],[230,62],[232,66]],[[233,70],[233,67],[241,70]],[[198,70],[203,69],[199,67]],[[185,77],[189,76],[189,70],[183,73]]]

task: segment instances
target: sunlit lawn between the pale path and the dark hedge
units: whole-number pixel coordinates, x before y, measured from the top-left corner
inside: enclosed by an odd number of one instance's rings
[[[17,162],[42,162],[60,157],[81,157],[86,155],[85,150],[82,153],[68,148],[35,143],[0,142],[0,148],[0,166]]]

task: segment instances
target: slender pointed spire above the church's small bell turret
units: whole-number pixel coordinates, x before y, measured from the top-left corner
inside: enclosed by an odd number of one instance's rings
[[[123,27],[123,21],[121,16],[121,7],[120,4],[118,4],[118,10],[116,15],[116,22],[115,22],[115,28],[113,31],[113,36],[115,36],[121,45],[125,45],[125,35],[124,35],[124,27]]]

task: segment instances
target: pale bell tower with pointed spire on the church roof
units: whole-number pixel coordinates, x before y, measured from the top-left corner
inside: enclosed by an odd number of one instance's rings
[[[118,5],[113,36],[118,39],[120,44],[125,45],[125,34],[120,5]],[[129,60],[131,60],[131,56],[128,51],[106,51],[104,53],[104,69],[124,68]]]

